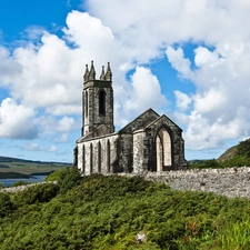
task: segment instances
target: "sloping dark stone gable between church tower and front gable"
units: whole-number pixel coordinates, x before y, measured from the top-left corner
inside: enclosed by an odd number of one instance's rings
[[[131,133],[134,130],[144,129],[149,123],[158,119],[160,116],[152,109],[148,109],[133,121],[123,127],[119,132]]]

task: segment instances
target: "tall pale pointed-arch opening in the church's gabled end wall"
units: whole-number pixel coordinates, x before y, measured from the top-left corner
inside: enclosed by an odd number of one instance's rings
[[[157,171],[164,171],[172,166],[171,138],[169,132],[162,128],[156,138]]]

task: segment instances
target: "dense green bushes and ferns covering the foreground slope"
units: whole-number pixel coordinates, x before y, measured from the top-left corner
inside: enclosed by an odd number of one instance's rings
[[[248,199],[73,168],[48,180],[0,193],[0,249],[250,249]]]

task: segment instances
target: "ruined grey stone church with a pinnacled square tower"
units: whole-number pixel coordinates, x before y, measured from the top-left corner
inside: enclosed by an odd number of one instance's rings
[[[82,131],[74,148],[74,166],[83,174],[187,169],[182,130],[167,116],[148,109],[114,131],[109,63],[99,80],[93,61],[90,70],[87,64],[83,79]]]

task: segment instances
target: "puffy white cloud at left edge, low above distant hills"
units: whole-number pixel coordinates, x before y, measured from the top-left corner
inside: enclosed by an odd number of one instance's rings
[[[0,137],[12,139],[34,139],[38,129],[33,122],[36,112],[13,99],[7,98],[0,106]]]

